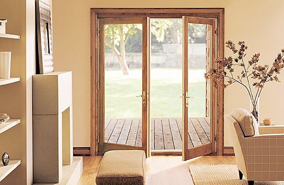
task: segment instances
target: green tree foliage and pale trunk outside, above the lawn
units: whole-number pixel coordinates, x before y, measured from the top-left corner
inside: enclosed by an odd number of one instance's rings
[[[105,25],[106,52],[112,52],[119,61],[123,74],[128,74],[126,52],[142,52],[142,24],[109,24]],[[189,42],[204,43],[206,26],[189,25]],[[170,19],[152,19],[151,37],[153,52],[162,50],[164,43],[182,42],[182,21]],[[127,44],[126,44],[127,43]]]

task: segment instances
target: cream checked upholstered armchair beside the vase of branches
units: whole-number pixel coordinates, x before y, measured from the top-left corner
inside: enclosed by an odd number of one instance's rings
[[[284,126],[258,126],[252,114],[236,109],[225,115],[233,141],[240,179],[254,181],[284,180]]]

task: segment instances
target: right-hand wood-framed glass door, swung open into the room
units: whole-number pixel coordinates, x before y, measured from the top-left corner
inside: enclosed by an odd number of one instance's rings
[[[215,152],[216,89],[210,80],[204,79],[204,82],[192,83],[196,75],[204,75],[209,68],[214,67],[216,53],[215,21],[215,19],[208,18],[183,17],[183,160]],[[196,34],[194,29],[199,29],[198,33],[203,32],[205,34],[206,40],[204,42],[206,44],[200,45],[200,47],[203,47],[202,49],[194,48],[198,44],[191,44],[191,42],[194,42],[191,36]],[[200,61],[200,59],[196,60],[193,57],[196,57],[196,52],[200,52],[204,64],[194,63]],[[195,53],[195,55],[192,53]],[[194,74],[193,68],[195,66],[199,66],[204,73]],[[200,88],[198,93],[204,93],[205,101],[191,101],[194,98],[194,91],[192,91],[194,88]],[[200,115],[196,117],[192,112],[196,109],[204,110],[202,119]],[[196,127],[195,121],[200,122],[199,127]],[[198,134],[200,133],[199,130],[204,130],[204,134]]]

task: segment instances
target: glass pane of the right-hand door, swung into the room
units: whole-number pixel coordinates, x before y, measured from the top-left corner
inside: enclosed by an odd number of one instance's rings
[[[210,112],[210,101],[207,101],[210,99],[210,83],[204,77],[211,45],[211,33],[207,32],[207,27],[210,25],[188,23],[188,148],[208,144],[211,138],[210,115],[207,113]]]

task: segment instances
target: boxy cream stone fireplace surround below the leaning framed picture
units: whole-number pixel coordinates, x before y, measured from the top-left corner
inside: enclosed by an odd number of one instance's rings
[[[74,159],[72,110],[72,72],[33,75],[34,183],[66,179],[63,166]],[[74,170],[78,179],[82,170]]]

